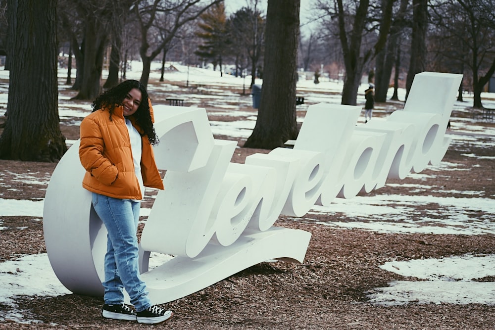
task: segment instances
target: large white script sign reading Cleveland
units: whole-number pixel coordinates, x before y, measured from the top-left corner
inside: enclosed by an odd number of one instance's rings
[[[273,226],[316,203],[383,187],[445,155],[461,75],[417,74],[404,110],[356,126],[358,106],[309,106],[294,149],[231,163],[201,108],[154,106],[158,167],[166,170],[142,237],[140,268],[154,303],[172,301],[269,259],[302,262],[311,234]],[[43,214],[51,266],[75,293],[102,295],[106,230],[82,188],[79,142],[51,177]],[[148,271],[150,251],[173,259]]]

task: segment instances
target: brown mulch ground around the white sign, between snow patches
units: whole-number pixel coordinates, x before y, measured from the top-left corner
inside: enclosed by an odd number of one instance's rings
[[[64,126],[67,139],[78,138],[78,127]],[[466,146],[477,155],[494,156],[494,150]],[[236,149],[233,161],[243,162],[254,152]],[[493,159],[461,156],[466,150],[450,148],[444,161],[462,169],[424,173],[432,190],[483,191],[476,197],[495,199]],[[0,198],[44,198],[46,186],[13,180],[16,174],[49,176],[56,164],[0,160],[2,185]],[[491,180],[487,180],[491,179]],[[393,182],[393,181],[391,181]],[[412,183],[410,179],[401,181]],[[372,194],[408,194],[407,188],[384,187]],[[451,193],[414,192],[452,196]],[[456,196],[455,193],[453,196]],[[463,195],[463,197],[466,197]],[[149,198],[148,198],[149,203]],[[149,207],[149,205],[147,206]],[[418,206],[421,217],[438,205]],[[476,212],[476,210],[473,210]],[[474,214],[473,217],[481,214]],[[319,221],[346,221],[341,214],[332,219],[318,215]],[[32,217],[1,217],[0,262],[21,254],[46,252],[42,221]],[[391,260],[440,258],[466,253],[494,254],[495,235],[386,234],[357,229],[339,229],[304,219],[281,217],[277,226],[312,233],[302,264],[261,263],[199,292],[167,304],[173,318],[157,326],[105,320],[100,317],[101,298],[69,294],[58,297],[18,297],[25,318],[39,323],[19,324],[8,320],[0,329],[495,329],[495,302],[480,304],[417,304],[384,307],[367,302],[366,294],[375,287],[387,286],[404,278],[379,266]],[[140,227],[140,230],[142,227]],[[480,279],[493,282],[494,278]],[[29,284],[26,284],[29,285]],[[495,287],[495,285],[494,285]],[[10,306],[0,304],[1,310]]]

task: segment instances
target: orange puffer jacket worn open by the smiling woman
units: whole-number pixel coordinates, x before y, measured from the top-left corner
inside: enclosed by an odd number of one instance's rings
[[[150,104],[151,118],[153,110]],[[120,199],[141,199],[141,189],[134,173],[129,131],[123,107],[115,107],[112,120],[108,109],[100,109],[81,122],[79,159],[86,169],[83,187],[101,195]],[[132,116],[138,132],[143,133]],[[142,138],[141,174],[146,187],[163,189],[153,148],[147,136]],[[144,195],[144,194],[143,194]]]

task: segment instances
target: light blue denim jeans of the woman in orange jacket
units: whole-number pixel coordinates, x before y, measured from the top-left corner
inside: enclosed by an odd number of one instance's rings
[[[146,284],[139,276],[138,229],[141,202],[118,199],[93,192],[93,207],[108,231],[105,254],[105,304],[124,302],[123,289],[136,311],[151,303]]]

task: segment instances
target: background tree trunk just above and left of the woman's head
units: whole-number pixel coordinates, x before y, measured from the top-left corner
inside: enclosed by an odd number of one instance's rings
[[[96,17],[88,19],[86,29],[82,85],[74,98],[92,100],[101,94],[106,31],[100,19]]]

